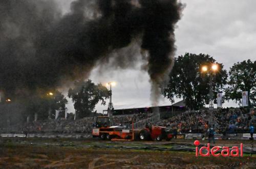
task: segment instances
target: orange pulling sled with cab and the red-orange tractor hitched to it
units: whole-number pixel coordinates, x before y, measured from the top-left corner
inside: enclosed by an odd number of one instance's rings
[[[125,126],[110,126],[110,120],[107,116],[96,117],[94,122],[94,129],[92,131],[93,137],[99,137],[102,140],[170,140],[173,134],[161,126],[152,126],[147,124],[143,129],[127,129]]]

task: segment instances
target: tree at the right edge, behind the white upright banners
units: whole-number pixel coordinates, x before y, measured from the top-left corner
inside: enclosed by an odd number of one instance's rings
[[[229,72],[228,88],[225,90],[227,100],[241,103],[242,91],[248,91],[248,104],[256,102],[256,61],[243,61],[234,64]]]

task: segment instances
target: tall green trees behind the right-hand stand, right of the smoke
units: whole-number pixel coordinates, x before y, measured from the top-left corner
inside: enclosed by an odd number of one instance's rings
[[[214,74],[202,72],[203,66],[210,67],[213,63],[218,65]],[[209,101],[210,76],[213,77],[212,91],[215,99],[217,93],[223,93],[223,100],[241,103],[242,91],[248,91],[249,106],[256,106],[256,61],[235,63],[227,72],[222,63],[203,53],[185,53],[175,58],[169,83],[162,94],[171,102],[175,98],[182,98],[190,109],[199,109]]]

